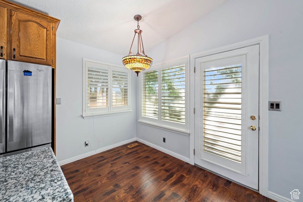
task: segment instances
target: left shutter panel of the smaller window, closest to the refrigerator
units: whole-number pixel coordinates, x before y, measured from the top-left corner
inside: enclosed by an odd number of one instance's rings
[[[88,113],[94,113],[95,108],[108,111],[108,65],[87,62],[87,101]]]

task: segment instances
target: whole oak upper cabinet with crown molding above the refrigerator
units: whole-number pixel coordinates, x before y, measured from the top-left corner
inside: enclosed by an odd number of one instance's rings
[[[56,68],[56,31],[60,20],[0,0],[0,59]],[[2,56],[3,55],[3,56]]]

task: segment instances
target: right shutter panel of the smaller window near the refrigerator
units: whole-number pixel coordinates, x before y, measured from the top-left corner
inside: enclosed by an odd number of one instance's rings
[[[112,67],[112,107],[114,111],[128,109],[128,70]]]

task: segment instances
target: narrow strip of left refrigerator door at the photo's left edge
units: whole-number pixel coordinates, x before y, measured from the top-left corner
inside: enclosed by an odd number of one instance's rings
[[[0,154],[5,152],[5,60],[0,60]]]

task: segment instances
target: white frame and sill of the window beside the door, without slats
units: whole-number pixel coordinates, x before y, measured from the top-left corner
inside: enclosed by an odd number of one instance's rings
[[[185,124],[182,123],[176,123],[171,121],[165,121],[161,120],[161,70],[164,68],[169,67],[175,67],[179,65],[185,65]],[[190,126],[190,120],[189,120],[189,55],[174,59],[171,61],[165,61],[158,63],[156,65],[153,65],[150,69],[145,70],[148,71],[154,71],[158,70],[158,119],[155,118],[148,118],[142,116],[142,75],[139,74],[139,101],[140,101],[140,118],[138,120],[139,123],[144,125],[149,125],[152,127],[157,127],[160,129],[164,129],[167,131],[172,131],[179,134],[189,135],[189,126]]]

